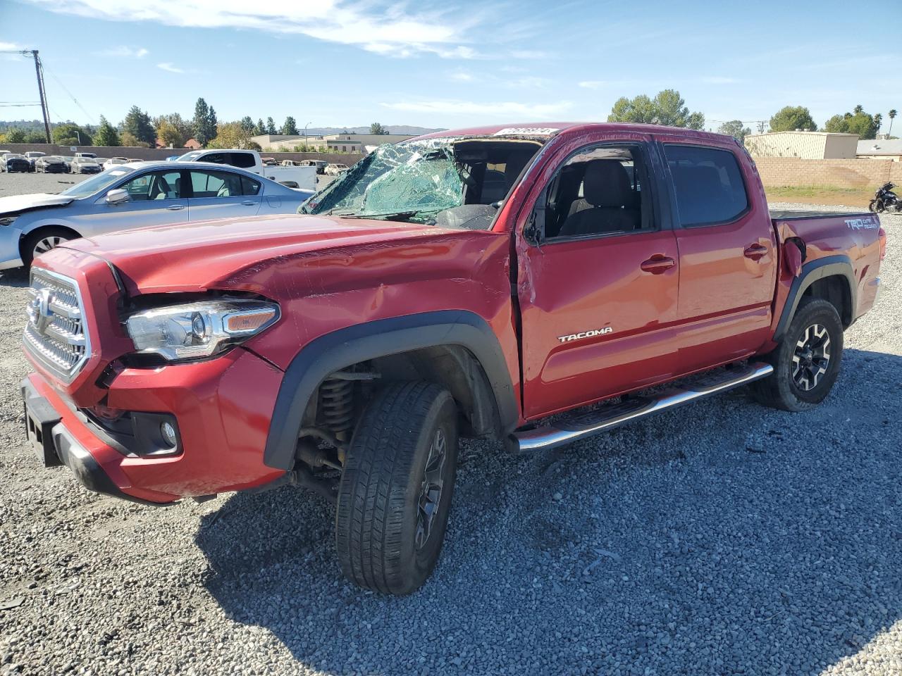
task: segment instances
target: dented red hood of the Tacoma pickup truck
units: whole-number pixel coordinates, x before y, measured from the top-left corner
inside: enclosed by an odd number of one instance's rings
[[[267,261],[350,245],[434,235],[434,226],[320,215],[230,218],[87,237],[63,247],[113,264],[130,294],[221,288]],[[232,287],[230,283],[228,286]],[[252,289],[253,290],[253,289]]]

